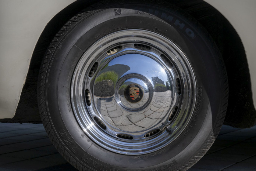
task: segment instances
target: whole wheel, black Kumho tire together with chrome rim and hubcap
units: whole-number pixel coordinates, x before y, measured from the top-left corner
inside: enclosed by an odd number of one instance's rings
[[[84,9],[52,40],[39,73],[44,127],[78,170],[187,170],[226,114],[218,48],[169,3]]]

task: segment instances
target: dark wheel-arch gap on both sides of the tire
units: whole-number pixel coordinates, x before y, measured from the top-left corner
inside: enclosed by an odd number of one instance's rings
[[[98,0],[93,2],[78,0],[62,9],[49,21],[35,46],[27,80],[21,93],[15,117],[0,120],[1,122],[41,122],[37,110],[37,103],[28,102],[37,101],[37,77],[45,50],[62,25],[86,6],[95,2],[98,2]],[[224,123],[234,127],[250,127],[255,125],[256,112],[252,100],[251,78],[245,49],[239,35],[229,21],[208,3],[202,0],[184,2],[172,0],[173,4],[189,13],[206,28],[219,47],[226,65],[229,80],[229,102]],[[211,21],[211,23],[208,21]],[[33,96],[27,96],[27,91],[35,92],[35,94]],[[24,107],[21,107],[23,105],[27,105],[26,110],[24,110]],[[31,110],[34,112],[28,112]],[[240,115],[241,112],[244,115]]]

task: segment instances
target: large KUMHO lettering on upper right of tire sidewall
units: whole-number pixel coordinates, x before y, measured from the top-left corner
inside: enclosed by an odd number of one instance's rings
[[[150,15],[150,16],[157,16],[157,17],[161,18],[162,20],[165,20],[169,23],[172,23],[177,28],[179,28],[181,31],[185,31],[185,34],[187,36],[189,36],[190,38],[195,38],[196,37],[196,35],[195,35],[195,33],[192,29],[187,27],[187,25],[185,23],[181,22],[180,20],[178,20],[178,19],[174,20],[174,16],[168,15],[164,12],[160,13],[158,10],[155,10],[155,9],[147,9],[146,7],[135,7],[134,8],[134,14],[143,14],[143,15],[145,15],[146,14],[145,11],[148,11],[147,14]]]

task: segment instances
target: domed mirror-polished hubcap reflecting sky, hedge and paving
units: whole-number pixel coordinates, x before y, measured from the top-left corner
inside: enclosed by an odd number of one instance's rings
[[[96,109],[109,126],[136,135],[168,115],[173,99],[169,82],[169,73],[151,57],[134,51],[120,55],[103,66],[95,78]]]

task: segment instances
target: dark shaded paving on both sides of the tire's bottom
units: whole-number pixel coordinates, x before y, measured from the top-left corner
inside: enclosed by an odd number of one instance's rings
[[[55,150],[42,124],[0,123],[0,171],[76,171]],[[222,130],[189,171],[255,171],[256,126]]]

